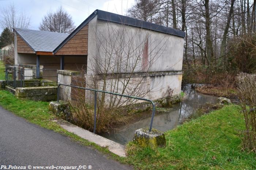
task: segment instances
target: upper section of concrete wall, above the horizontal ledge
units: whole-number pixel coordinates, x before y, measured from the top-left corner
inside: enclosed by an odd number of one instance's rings
[[[92,67],[96,70],[108,65],[113,68],[109,69],[108,73],[182,70],[184,46],[182,37],[109,23],[96,20],[95,17],[89,23],[88,38],[88,60],[96,58],[100,63],[98,65],[101,66],[98,67],[94,63]],[[106,62],[105,59],[110,60]],[[136,66],[135,60],[138,60]],[[117,64],[118,62],[122,64]],[[131,71],[133,68],[135,71]]]

